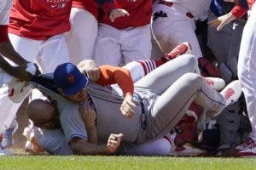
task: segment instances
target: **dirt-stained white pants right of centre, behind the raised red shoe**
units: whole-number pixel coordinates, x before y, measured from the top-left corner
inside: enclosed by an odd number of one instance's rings
[[[178,8],[170,8],[166,5],[156,5],[155,12],[163,11],[166,17],[159,17],[152,23],[152,31],[155,40],[159,43],[164,54],[169,53],[173,48],[182,42],[189,42],[191,54],[198,59],[202,56],[201,48],[195,36],[195,20],[189,18]]]

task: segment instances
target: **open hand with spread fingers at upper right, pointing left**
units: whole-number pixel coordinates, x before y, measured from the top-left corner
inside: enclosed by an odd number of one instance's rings
[[[215,20],[209,21],[208,25],[212,27],[217,27],[217,31],[220,31],[224,26],[229,24],[232,20],[236,20],[236,16],[232,13],[228,13],[218,17]]]

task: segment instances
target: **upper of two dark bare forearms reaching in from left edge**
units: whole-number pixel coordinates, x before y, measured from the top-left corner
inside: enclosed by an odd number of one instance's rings
[[[26,59],[23,59],[20,54],[18,54],[11,42],[1,42],[0,43],[0,54],[4,57],[12,60],[17,65],[26,65]]]

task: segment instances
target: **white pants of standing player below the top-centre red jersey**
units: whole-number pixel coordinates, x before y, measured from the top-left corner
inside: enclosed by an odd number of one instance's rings
[[[96,64],[120,65],[140,59],[150,59],[150,26],[140,26],[119,30],[105,24],[99,25],[96,40]]]

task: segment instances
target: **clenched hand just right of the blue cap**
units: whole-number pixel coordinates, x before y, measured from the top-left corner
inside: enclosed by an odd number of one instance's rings
[[[96,67],[96,63],[92,59],[84,59],[78,65],[79,71],[84,73],[90,81],[97,81],[100,78],[100,69]]]

